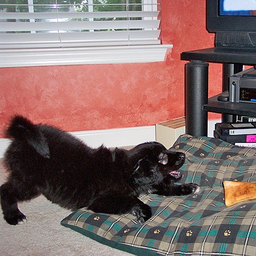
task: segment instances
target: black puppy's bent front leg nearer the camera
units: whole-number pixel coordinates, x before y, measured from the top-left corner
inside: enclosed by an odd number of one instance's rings
[[[126,214],[137,216],[137,221],[143,223],[151,216],[151,208],[142,203],[135,196],[127,195],[104,195],[99,196],[88,206],[88,209],[98,213]]]

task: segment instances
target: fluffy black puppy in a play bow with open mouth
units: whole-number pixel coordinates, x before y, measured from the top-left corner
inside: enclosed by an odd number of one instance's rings
[[[40,194],[71,210],[133,213],[143,223],[151,217],[151,208],[139,195],[189,195],[200,188],[174,184],[182,177],[176,170],[185,154],[168,151],[160,143],[139,144],[129,151],[93,149],[64,131],[34,125],[20,115],[13,118],[7,134],[14,138],[5,155],[10,176],[0,195],[3,216],[11,225],[27,220],[18,201]]]

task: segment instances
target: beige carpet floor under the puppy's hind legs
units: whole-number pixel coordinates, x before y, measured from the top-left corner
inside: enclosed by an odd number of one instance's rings
[[[6,172],[0,159],[0,185]],[[88,237],[60,225],[71,211],[60,208],[39,196],[19,204],[27,216],[26,224],[12,226],[0,216],[0,255],[84,255],[128,256],[132,255],[102,245]]]

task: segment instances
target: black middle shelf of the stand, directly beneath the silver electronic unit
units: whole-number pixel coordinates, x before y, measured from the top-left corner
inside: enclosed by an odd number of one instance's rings
[[[256,117],[256,104],[243,102],[218,101],[220,94],[208,99],[208,104],[204,105],[207,112],[226,113],[233,115],[246,115]]]

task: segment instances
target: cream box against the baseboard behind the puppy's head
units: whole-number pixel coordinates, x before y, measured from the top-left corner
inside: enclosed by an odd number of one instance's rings
[[[181,134],[185,134],[185,118],[180,117],[171,121],[156,123],[156,141],[167,149],[172,147]]]

